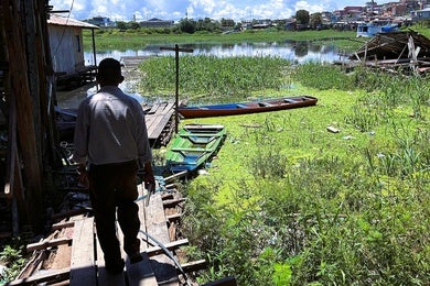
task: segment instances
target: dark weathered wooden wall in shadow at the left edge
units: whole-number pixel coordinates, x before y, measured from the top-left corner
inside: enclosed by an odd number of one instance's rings
[[[13,230],[43,230],[47,169],[58,164],[55,132],[53,69],[47,41],[47,0],[0,2],[4,101],[8,121],[7,174],[2,197],[17,202]]]

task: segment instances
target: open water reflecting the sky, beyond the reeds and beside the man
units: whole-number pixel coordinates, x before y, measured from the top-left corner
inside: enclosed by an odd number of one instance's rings
[[[174,52],[161,51],[161,45],[148,45],[141,50],[127,51],[107,51],[96,54],[97,65],[106,57],[114,57],[118,61],[126,56],[173,56]],[[173,44],[162,45],[174,47]],[[315,44],[308,41],[284,41],[273,43],[241,43],[241,44],[184,44],[182,48],[192,48],[193,55],[209,55],[216,57],[235,57],[235,56],[252,56],[252,57],[281,57],[297,64],[307,62],[333,63],[334,61],[346,61],[340,56],[334,44]],[[180,56],[185,53],[180,53]],[[186,53],[186,55],[190,55]],[[92,52],[85,52],[86,65],[95,65],[94,55]],[[138,94],[138,80],[132,77],[127,77],[120,85],[120,88],[128,95],[137,98],[140,102],[144,102],[146,98]],[[87,96],[97,91],[96,85],[85,86],[83,88],[58,92],[57,102],[61,108],[77,108],[79,102]]]

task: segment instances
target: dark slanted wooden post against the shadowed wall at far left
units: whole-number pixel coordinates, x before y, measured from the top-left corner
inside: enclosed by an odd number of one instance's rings
[[[25,48],[25,31],[22,26],[24,13],[21,1],[11,0],[1,6],[4,21],[4,36],[8,56],[13,59],[10,65],[10,100],[17,105],[17,130],[20,155],[23,163],[23,179],[25,182],[25,200],[28,217],[24,221],[31,223],[34,230],[43,229],[43,188],[42,188],[42,154],[37,150],[33,99],[30,92],[28,57]],[[28,11],[34,13],[35,11]],[[12,61],[10,61],[12,62]],[[25,218],[26,217],[26,218]]]

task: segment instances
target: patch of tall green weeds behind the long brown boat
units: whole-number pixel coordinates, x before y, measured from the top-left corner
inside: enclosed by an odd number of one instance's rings
[[[246,99],[254,90],[281,89],[290,62],[278,57],[182,56],[179,88],[191,102],[229,102]],[[173,56],[143,61],[141,92],[166,96],[175,91]],[[194,95],[194,96],[190,96]]]

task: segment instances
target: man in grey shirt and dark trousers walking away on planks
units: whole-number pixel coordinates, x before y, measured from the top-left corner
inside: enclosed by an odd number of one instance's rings
[[[116,217],[123,233],[123,250],[131,263],[142,260],[137,172],[154,186],[152,153],[141,105],[118,87],[122,82],[120,63],[105,58],[98,66],[100,90],[80,102],[75,128],[74,161],[88,164],[88,180],[98,241],[110,273],[123,271]]]

